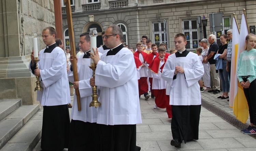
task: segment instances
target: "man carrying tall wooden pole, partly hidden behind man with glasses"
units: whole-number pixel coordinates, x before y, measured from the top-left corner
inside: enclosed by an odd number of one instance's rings
[[[100,127],[96,124],[98,109],[95,107],[89,107],[89,104],[92,101],[90,78],[93,75],[93,70],[89,68],[91,65],[91,59],[89,58],[89,32],[80,35],[79,47],[83,52],[83,54],[77,58],[77,73],[79,81],[74,81],[72,65],[68,73],[69,81],[73,83],[75,89],[79,89],[81,103],[81,111],[78,111],[77,98],[75,95],[71,111],[69,151],[98,151],[101,150],[101,146],[97,144],[100,140]],[[101,53],[99,54],[101,55]],[[71,61],[72,60],[73,59],[71,59]]]

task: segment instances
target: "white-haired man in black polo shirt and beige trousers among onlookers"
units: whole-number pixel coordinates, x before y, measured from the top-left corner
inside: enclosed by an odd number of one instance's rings
[[[215,66],[216,60],[213,59],[219,49],[215,41],[216,41],[216,36],[210,35],[208,38],[208,42],[211,45],[208,50],[208,56],[206,60],[210,63],[210,71],[211,71],[212,83],[213,83],[212,90],[209,90],[208,92],[213,92],[214,94],[217,94],[217,93],[220,93],[221,90],[219,89],[219,74],[216,73],[216,66]]]

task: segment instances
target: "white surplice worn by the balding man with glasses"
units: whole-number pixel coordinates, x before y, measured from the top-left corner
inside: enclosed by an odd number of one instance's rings
[[[122,48],[115,55],[104,53],[95,71],[95,85],[101,86],[98,124],[141,123],[137,69],[132,52]]]

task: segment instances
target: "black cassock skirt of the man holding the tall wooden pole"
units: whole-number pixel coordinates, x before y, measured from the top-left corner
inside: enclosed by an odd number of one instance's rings
[[[101,151],[100,125],[71,120],[69,151]]]

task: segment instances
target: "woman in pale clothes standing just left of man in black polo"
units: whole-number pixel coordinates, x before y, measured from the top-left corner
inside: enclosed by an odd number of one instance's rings
[[[210,64],[206,60],[209,47],[207,46],[208,40],[202,39],[200,41],[200,45],[203,49],[201,56],[203,57],[203,68],[204,68],[204,74],[203,74],[203,83],[204,83],[204,90],[210,90],[211,89],[211,83],[210,83]]]

